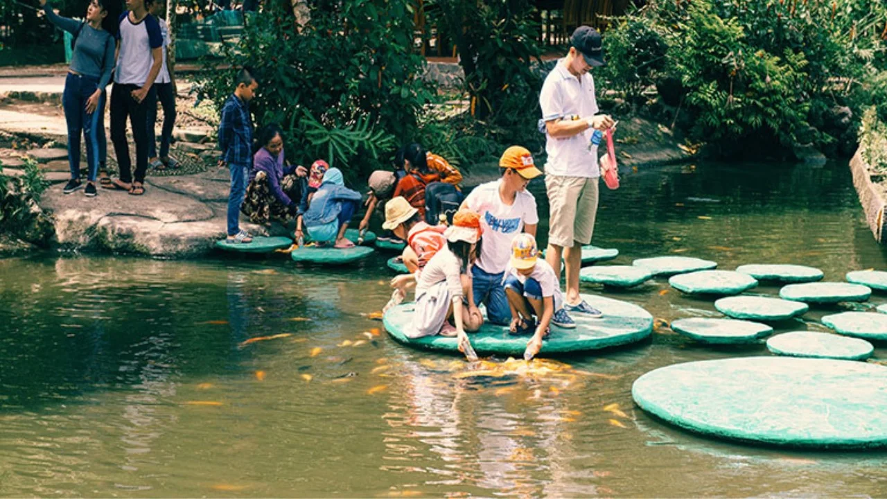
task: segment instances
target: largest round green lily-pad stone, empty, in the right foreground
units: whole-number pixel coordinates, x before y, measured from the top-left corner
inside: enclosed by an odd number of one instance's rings
[[[796,448],[887,446],[887,368],[790,357],[658,368],[632,386],[650,414],[713,437]]]

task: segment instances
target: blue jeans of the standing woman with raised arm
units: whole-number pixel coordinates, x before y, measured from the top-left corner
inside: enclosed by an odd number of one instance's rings
[[[67,162],[71,168],[71,178],[80,178],[80,137],[85,138],[86,162],[89,173],[86,179],[96,180],[98,161],[102,157],[98,134],[104,136],[99,127],[104,122],[101,114],[105,109],[105,92],[98,98],[98,106],[92,113],[86,112],[86,102],[98,89],[98,78],[87,75],[68,73],[65,79],[65,91],[62,93],[61,104],[65,109],[67,123]]]

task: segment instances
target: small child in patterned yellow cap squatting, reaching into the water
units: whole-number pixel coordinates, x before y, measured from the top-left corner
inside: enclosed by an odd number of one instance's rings
[[[536,238],[532,235],[524,233],[514,237],[503,285],[511,308],[509,332],[513,335],[533,334],[523,353],[525,359],[532,359],[542,348],[542,338],[548,336],[549,323],[561,328],[576,327],[576,322],[563,308],[557,274],[546,260],[539,259]]]

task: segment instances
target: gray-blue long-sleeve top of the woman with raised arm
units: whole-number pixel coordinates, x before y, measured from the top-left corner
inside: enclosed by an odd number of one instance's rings
[[[49,2],[43,5],[43,12],[52,24],[77,37],[71,71],[98,78],[98,88],[104,91],[114,71],[114,36],[104,29],[92,28],[89,23],[59,16],[52,12]]]

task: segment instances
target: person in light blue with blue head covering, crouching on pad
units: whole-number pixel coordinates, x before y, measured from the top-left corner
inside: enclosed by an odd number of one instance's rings
[[[334,242],[335,248],[353,248],[345,230],[360,203],[360,193],[345,186],[338,168],[326,170],[318,192],[311,197],[304,223],[311,241],[318,246]]]

